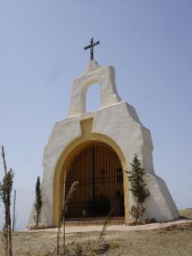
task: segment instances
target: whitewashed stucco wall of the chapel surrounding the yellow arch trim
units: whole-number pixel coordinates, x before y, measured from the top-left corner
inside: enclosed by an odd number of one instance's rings
[[[101,86],[101,109],[85,112],[85,93],[92,82]],[[140,122],[133,106],[121,101],[117,94],[114,69],[101,68],[97,62],[90,63],[88,69],[75,80],[71,89],[69,117],[55,123],[43,156],[44,176],[42,182],[43,211],[41,222],[51,226],[53,204],[53,177],[59,156],[66,146],[81,135],[80,120],[93,118],[92,133],[110,137],[123,151],[127,163],[137,154],[147,172],[145,176],[151,196],[145,201],[145,218],[171,220],[178,218],[178,211],[163,179],[155,175],[153,165],[153,143],[151,133]],[[129,165],[131,170],[131,166]],[[133,197],[130,194],[130,204]],[[127,209],[128,210],[128,209]],[[34,224],[31,211],[29,226]]]

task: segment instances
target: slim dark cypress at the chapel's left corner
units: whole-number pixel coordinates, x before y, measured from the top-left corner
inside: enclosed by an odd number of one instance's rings
[[[36,215],[34,217],[34,219],[36,220],[36,226],[38,226],[38,223],[40,221],[42,205],[43,205],[43,202],[42,202],[41,189],[40,189],[40,178],[39,178],[39,176],[37,176],[36,203],[35,203]]]

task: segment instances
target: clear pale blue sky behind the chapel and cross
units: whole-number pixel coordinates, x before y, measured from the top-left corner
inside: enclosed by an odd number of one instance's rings
[[[151,130],[154,165],[178,208],[192,207],[192,2],[0,0],[0,144],[16,189],[34,189],[70,84],[95,59]],[[96,87],[88,92],[96,106]],[[0,177],[3,165],[0,162]]]

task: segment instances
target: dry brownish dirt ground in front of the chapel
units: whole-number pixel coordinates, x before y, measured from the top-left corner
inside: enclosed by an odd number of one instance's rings
[[[183,216],[192,218],[192,209],[187,209]],[[98,241],[99,236],[100,232],[96,231],[68,233],[67,243]],[[192,222],[155,230],[109,230],[105,233],[104,240],[111,244],[110,250],[101,254],[105,256],[189,256],[192,255]],[[56,246],[57,232],[14,232],[14,256],[46,255],[44,252],[51,252]],[[2,240],[0,255],[4,255]]]

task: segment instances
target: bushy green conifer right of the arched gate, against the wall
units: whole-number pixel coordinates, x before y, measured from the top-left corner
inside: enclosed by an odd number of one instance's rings
[[[144,200],[146,197],[150,196],[150,192],[148,189],[145,189],[146,183],[144,182],[144,175],[146,172],[144,171],[144,168],[142,167],[137,155],[134,155],[133,163],[131,163],[131,165],[132,172],[127,173],[128,179],[131,183],[130,190],[132,191],[135,205],[131,207],[130,214],[137,222],[137,220],[140,219],[144,214]]]

